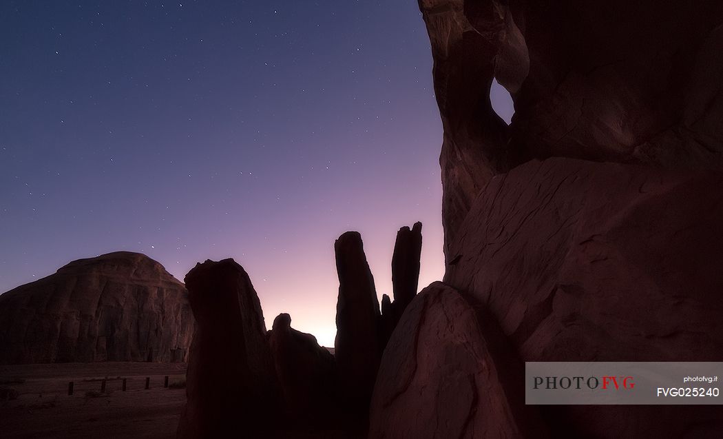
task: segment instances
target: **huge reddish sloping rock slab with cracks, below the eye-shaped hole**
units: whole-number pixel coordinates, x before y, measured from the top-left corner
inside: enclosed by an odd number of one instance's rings
[[[487,304],[525,361],[723,361],[721,223],[718,172],[532,161],[479,195],[445,283]],[[558,412],[599,437],[723,429],[722,409],[669,410]]]

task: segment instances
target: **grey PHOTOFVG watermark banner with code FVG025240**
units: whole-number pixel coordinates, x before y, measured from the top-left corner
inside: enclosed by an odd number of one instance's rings
[[[723,404],[723,362],[526,362],[526,404]]]

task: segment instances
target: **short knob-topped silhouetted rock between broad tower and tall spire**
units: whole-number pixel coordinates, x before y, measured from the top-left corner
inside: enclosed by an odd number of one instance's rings
[[[334,357],[315,336],[291,328],[291,317],[279,314],[269,331],[276,375],[286,409],[296,422],[329,424],[335,393]]]

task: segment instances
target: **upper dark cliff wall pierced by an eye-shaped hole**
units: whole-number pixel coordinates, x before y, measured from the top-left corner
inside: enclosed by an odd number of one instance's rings
[[[419,0],[435,59],[449,243],[495,174],[566,156],[720,169],[719,1]],[[513,95],[492,111],[496,77]]]

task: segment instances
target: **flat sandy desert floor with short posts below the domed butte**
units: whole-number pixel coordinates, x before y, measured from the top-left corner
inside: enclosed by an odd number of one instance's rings
[[[175,438],[186,400],[184,388],[163,388],[185,380],[185,364],[70,363],[0,366],[0,388],[20,395],[0,401],[0,437]],[[145,378],[150,388],[144,390]],[[106,393],[99,396],[100,380]],[[127,391],[121,391],[127,378]],[[68,383],[74,394],[68,396]]]

